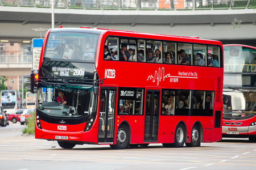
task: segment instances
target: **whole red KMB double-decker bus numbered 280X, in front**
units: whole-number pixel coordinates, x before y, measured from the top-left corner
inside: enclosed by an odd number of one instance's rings
[[[51,29],[39,63],[35,138],[63,148],[220,141],[222,52],[220,41],[192,37]]]

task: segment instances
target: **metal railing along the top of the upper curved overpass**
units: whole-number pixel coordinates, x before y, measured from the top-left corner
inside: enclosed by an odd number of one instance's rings
[[[256,8],[256,0],[0,0],[0,6],[93,10],[207,10]]]

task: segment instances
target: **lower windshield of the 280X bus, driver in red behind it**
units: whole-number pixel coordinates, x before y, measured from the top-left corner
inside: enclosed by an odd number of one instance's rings
[[[96,95],[93,90],[93,86],[40,87],[37,111],[56,117],[79,117],[95,113]]]

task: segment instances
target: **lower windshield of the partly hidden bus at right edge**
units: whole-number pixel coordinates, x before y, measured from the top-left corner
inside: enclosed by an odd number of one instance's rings
[[[223,118],[242,119],[255,116],[256,92],[224,91]]]

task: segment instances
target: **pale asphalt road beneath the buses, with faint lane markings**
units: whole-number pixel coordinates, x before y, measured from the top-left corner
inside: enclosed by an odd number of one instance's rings
[[[0,127],[0,169],[255,169],[256,143],[225,139],[201,147],[112,150],[108,145],[60,148],[56,141],[22,135],[24,125]],[[20,130],[20,131],[19,131]]]

